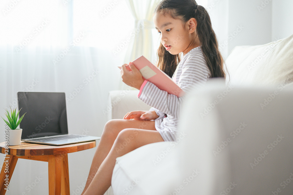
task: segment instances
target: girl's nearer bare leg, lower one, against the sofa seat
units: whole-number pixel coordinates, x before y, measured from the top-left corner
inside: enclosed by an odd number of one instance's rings
[[[127,128],[120,131],[109,154],[101,163],[84,195],[103,195],[107,191],[111,185],[112,173],[117,157],[125,155],[143,145],[161,141],[164,140],[160,133],[154,130]],[[124,147],[121,147],[121,144]]]

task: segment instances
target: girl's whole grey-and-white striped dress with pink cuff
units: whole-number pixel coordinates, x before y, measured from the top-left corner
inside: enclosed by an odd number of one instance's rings
[[[201,46],[199,46],[183,56],[172,79],[185,93],[188,93],[194,87],[204,86],[210,75]],[[154,120],[155,128],[163,140],[176,141],[178,114],[184,96],[178,98],[176,95],[168,94],[145,80],[137,97],[152,106],[150,111],[156,111],[159,117]]]

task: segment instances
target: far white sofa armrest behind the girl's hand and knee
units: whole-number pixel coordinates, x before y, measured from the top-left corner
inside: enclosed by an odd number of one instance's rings
[[[127,112],[149,110],[151,106],[138,99],[139,90],[113,90],[109,92],[107,114],[108,120],[122,119]]]

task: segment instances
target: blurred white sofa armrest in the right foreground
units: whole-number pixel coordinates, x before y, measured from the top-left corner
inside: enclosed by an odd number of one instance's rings
[[[189,94],[179,169],[199,174],[180,194],[292,194],[293,86],[277,86],[227,90],[215,82]]]

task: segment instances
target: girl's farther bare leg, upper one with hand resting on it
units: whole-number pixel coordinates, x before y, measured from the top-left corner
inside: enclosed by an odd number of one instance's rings
[[[96,175],[98,168],[100,167],[103,160],[106,158],[110,152],[118,133],[126,128],[137,128],[137,129],[147,129],[156,130],[154,121],[139,121],[139,120],[125,120],[125,119],[113,119],[105,124],[103,133],[101,135],[100,142],[98,144],[97,150],[94,154],[91,168],[88,174],[88,179],[84,187],[82,195],[90,185],[92,179]]]

